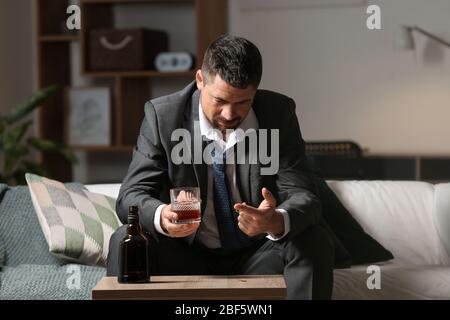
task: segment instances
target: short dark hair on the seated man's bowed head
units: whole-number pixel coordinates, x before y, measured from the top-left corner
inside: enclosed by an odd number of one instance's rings
[[[247,39],[223,35],[206,49],[202,64],[205,81],[212,82],[216,74],[229,85],[245,89],[259,86],[262,58],[258,48]]]

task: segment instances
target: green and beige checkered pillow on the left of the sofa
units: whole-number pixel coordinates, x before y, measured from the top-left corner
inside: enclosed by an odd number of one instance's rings
[[[25,178],[50,252],[77,263],[106,265],[109,239],[121,225],[116,200],[81,184],[29,173]]]

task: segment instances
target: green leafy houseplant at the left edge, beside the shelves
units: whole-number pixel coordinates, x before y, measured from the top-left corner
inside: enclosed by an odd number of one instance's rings
[[[0,115],[0,183],[25,184],[25,172],[47,176],[48,169],[45,164],[31,159],[33,150],[59,153],[71,163],[77,162],[75,154],[64,144],[32,136],[26,138],[33,121],[24,118],[60,90],[59,85],[49,86],[35,93],[8,114]]]

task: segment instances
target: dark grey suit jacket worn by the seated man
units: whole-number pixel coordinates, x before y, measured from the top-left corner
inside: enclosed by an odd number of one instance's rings
[[[126,223],[129,206],[138,205],[144,230],[156,240],[161,235],[154,228],[154,214],[159,205],[170,203],[170,188],[199,186],[202,213],[206,206],[207,165],[175,165],[170,160],[171,150],[178,143],[171,141],[172,132],[185,128],[193,136],[194,121],[198,121],[199,95],[195,82],[192,82],[179,92],[146,103],[133,159],[120,189],[117,213],[121,221]],[[275,92],[258,90],[253,110],[259,129],[279,129],[279,171],[276,175],[262,176],[260,163],[237,164],[239,191],[242,200],[255,207],[263,200],[262,187],[272,191],[277,198],[277,207],[289,213],[291,228],[283,238],[286,240],[319,223],[321,205],[317,185],[307,165],[295,102]],[[191,235],[186,240],[191,244],[194,237]]]

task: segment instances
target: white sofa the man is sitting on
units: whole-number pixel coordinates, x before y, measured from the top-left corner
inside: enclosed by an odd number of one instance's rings
[[[333,299],[450,299],[450,183],[328,184],[364,230],[395,257],[377,264],[380,289],[367,286],[373,275],[367,265],[335,270]],[[87,187],[117,197],[120,185]]]

